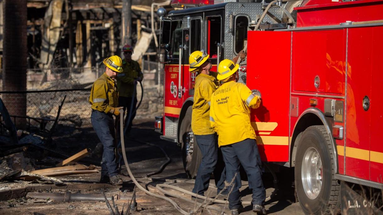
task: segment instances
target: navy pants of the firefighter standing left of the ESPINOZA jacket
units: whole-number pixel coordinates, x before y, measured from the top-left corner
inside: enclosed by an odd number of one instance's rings
[[[209,188],[210,176],[213,173],[218,194],[225,187],[226,174],[222,155],[216,142],[217,135],[195,135],[195,138],[201,150],[202,160],[192,192],[204,195]],[[222,192],[222,194],[227,193],[226,190]]]

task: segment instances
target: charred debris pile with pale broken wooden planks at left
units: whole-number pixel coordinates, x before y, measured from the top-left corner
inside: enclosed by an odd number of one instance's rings
[[[60,151],[52,149],[52,134],[55,132],[55,127],[58,124],[65,98],[66,96],[64,96],[61,104],[58,106],[56,119],[52,121],[50,129],[43,127],[35,133],[26,130],[16,130],[15,125],[11,121],[12,116],[8,114],[7,108],[0,99],[2,117],[0,181],[13,181],[23,184],[63,184],[64,182],[55,177],[98,173],[94,165],[85,166],[77,163],[90,154],[87,148],[72,156],[67,156]],[[29,118],[38,121],[37,118]],[[75,114],[69,117],[70,120],[75,121],[75,124],[81,125],[77,118]],[[43,123],[43,121],[39,122]],[[99,165],[95,161],[90,161],[89,159],[88,161],[88,163]]]

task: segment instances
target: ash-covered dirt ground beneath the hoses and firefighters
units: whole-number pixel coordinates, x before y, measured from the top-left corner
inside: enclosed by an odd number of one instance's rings
[[[64,135],[64,134],[63,134]],[[56,145],[56,150],[66,153],[67,155],[72,155],[82,150],[83,148],[95,149],[97,143],[99,142],[94,133],[92,127],[82,129],[82,132],[78,134],[65,134],[65,137],[58,138],[54,141]],[[144,187],[147,187],[150,191],[160,194],[160,192],[155,191],[153,187],[156,184],[164,182],[152,182],[148,181],[144,177],[147,173],[157,171],[162,163],[166,161],[162,151],[150,145],[146,145],[142,142],[149,142],[152,144],[159,145],[162,147],[166,153],[171,158],[172,162],[166,166],[164,171],[160,174],[153,176],[153,178],[162,178],[162,179],[187,179],[187,176],[183,169],[182,157],[181,157],[181,148],[177,147],[175,143],[167,142],[160,140],[160,134],[154,132],[153,129],[153,120],[135,120],[133,122],[133,129],[131,134],[126,140],[126,152],[128,157],[129,166],[136,177],[137,181]],[[77,138],[79,137],[79,138]],[[91,140],[91,141],[89,141]],[[139,140],[136,142],[134,140]],[[93,151],[92,159],[94,162],[100,162],[100,158],[97,157],[97,150]],[[50,168],[54,163],[58,163],[62,159],[54,158],[54,156],[48,156],[44,161],[45,165],[36,166],[38,168]],[[51,164],[50,164],[50,163]],[[97,167],[98,170],[101,170],[100,167]],[[46,189],[47,185],[41,184],[20,184],[16,182],[3,182],[0,184],[0,194],[3,191],[9,191],[13,189],[20,189],[28,186],[36,186],[35,190],[32,192],[56,192],[56,193],[65,193],[70,191],[72,193],[87,193],[87,194],[102,194],[101,187],[106,195],[132,195],[134,184],[131,179],[127,176],[127,172],[122,166],[121,178],[124,181],[123,186],[110,186],[105,184],[99,184],[100,173],[93,174],[82,174],[82,175],[71,175],[71,176],[61,176],[57,177],[65,183],[65,186],[62,186],[62,189]],[[280,191],[278,191],[277,197],[271,202],[267,202],[266,209],[268,214],[303,214],[300,205],[296,202],[294,187],[291,183],[291,170],[282,169],[280,173],[277,173],[280,183]],[[273,183],[271,174],[265,173],[263,176],[265,187],[267,188],[267,195],[270,195],[273,191]],[[211,184],[214,184],[212,179]],[[181,187],[188,191],[193,189],[193,184],[183,184],[183,183],[173,183],[172,185]],[[43,189],[39,189],[39,187]],[[45,188],[44,188],[45,186]],[[182,194],[178,191],[177,194],[183,195],[185,198],[190,198],[190,195]],[[210,187],[205,195],[214,197],[216,189]],[[250,201],[251,193],[247,188],[247,181],[242,181],[241,188],[242,200]],[[163,195],[163,194],[161,194]],[[172,198],[177,202],[180,207],[190,212],[196,205],[192,203],[185,202],[180,199]],[[136,201],[137,201],[137,211],[131,212],[133,214],[180,214],[169,202],[151,197],[146,195],[143,191],[137,189],[136,191]],[[115,200],[116,205],[119,208],[119,212],[123,208],[123,204],[129,204],[129,200]],[[223,208],[225,213],[230,214],[228,205],[224,204],[214,204],[216,207]],[[241,214],[255,214],[252,212],[252,207],[249,205],[244,205],[245,211]],[[125,206],[126,207],[126,206]],[[8,201],[0,201],[0,214],[110,214],[105,202],[100,201],[74,201],[74,202],[59,202],[53,201],[51,199],[36,200],[29,199],[26,197],[21,197],[17,199],[11,199]],[[198,213],[200,214],[200,213]],[[203,210],[201,214],[219,214],[215,210]]]

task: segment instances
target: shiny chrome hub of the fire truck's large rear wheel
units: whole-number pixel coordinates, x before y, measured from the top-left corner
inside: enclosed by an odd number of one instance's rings
[[[318,151],[310,147],[303,155],[302,161],[302,184],[306,195],[310,199],[316,199],[322,186],[322,161]]]

